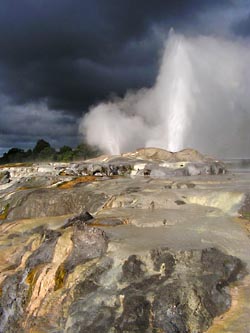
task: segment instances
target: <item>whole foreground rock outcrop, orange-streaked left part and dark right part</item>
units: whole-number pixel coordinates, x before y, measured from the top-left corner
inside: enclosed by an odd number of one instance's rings
[[[228,286],[245,273],[216,248],[114,261],[106,234],[86,225],[43,231],[40,242],[1,283],[1,332],[200,333],[228,310]]]

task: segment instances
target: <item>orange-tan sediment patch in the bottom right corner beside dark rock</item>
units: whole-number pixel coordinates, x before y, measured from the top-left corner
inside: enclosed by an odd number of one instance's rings
[[[231,288],[232,304],[230,309],[215,318],[213,325],[206,333],[249,333],[249,296],[250,275],[237,282]]]

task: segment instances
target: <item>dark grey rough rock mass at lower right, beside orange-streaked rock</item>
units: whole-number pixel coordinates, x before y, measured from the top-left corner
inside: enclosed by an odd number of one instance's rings
[[[77,294],[81,301],[72,307],[70,319],[75,324],[67,332],[82,332],[86,327],[98,332],[101,326],[104,332],[117,333],[204,332],[215,316],[230,307],[226,286],[244,272],[239,259],[214,248],[178,252],[160,248],[150,255],[155,274],[149,274],[148,262],[136,255],[125,260],[121,281],[127,286],[119,289],[117,285],[112,291],[120,307],[100,306],[97,301],[105,299],[99,279],[106,270],[81,282]]]

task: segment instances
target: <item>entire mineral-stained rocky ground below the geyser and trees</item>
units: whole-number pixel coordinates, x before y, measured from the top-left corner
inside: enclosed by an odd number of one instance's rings
[[[190,149],[3,167],[0,332],[249,332],[249,185]]]

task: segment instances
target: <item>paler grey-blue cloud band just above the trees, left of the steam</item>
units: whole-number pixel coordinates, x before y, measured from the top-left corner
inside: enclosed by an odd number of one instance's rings
[[[76,145],[77,120],[72,115],[49,110],[46,103],[11,105],[0,96],[0,150],[16,147],[31,148],[43,137],[55,147]],[[17,145],[18,143],[18,145]]]

